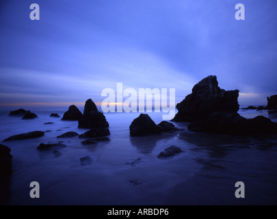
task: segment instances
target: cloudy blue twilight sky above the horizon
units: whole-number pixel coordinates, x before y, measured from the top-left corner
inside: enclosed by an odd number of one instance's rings
[[[99,104],[117,83],[175,88],[179,103],[209,75],[238,89],[240,105],[266,105],[277,94],[276,12],[276,0],[2,0],[0,107]]]

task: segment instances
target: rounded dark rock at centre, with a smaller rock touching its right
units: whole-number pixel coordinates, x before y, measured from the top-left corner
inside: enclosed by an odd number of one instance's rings
[[[131,136],[147,136],[162,131],[162,128],[156,125],[148,114],[140,114],[133,120],[129,129]]]

